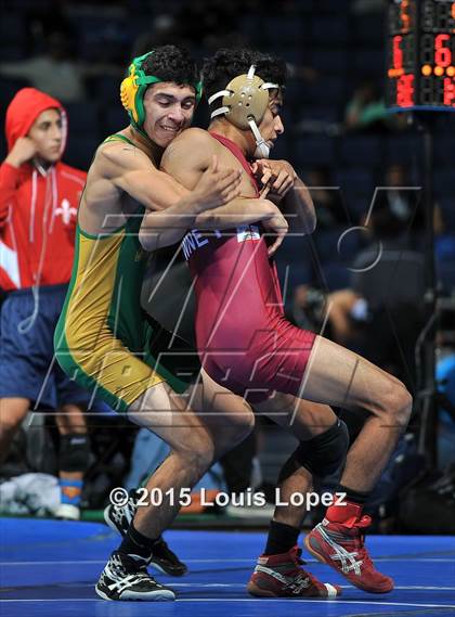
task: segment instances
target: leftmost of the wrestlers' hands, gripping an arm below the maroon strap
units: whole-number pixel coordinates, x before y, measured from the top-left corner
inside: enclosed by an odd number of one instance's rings
[[[240,194],[240,169],[218,168],[218,158],[213,154],[210,167],[204,171],[193,195],[200,211],[218,208]]]

